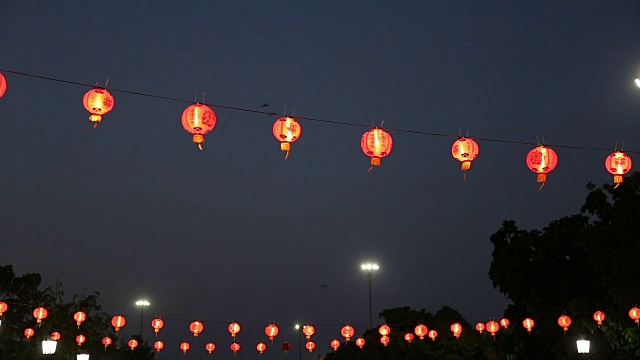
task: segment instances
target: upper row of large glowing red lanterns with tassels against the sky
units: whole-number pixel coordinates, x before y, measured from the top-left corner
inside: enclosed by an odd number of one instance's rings
[[[6,91],[6,79],[0,73],[0,97]],[[89,120],[94,127],[102,121],[102,116],[109,113],[115,106],[113,96],[104,88],[94,88],[84,94],[82,103],[90,113]],[[195,103],[188,106],[182,112],[182,127],[192,134],[193,142],[202,150],[204,136],[216,126],[215,112],[208,106]],[[291,143],[298,140],[302,134],[302,127],[291,116],[281,117],[273,124],[273,135],[280,141],[280,149],[286,151],[285,159],[289,157]],[[380,166],[381,159],[391,154],[393,138],[391,134],[382,128],[375,127],[362,135],[360,140],[362,151],[371,158],[371,171],[375,166]],[[478,157],[480,147],[478,143],[469,137],[460,137],[453,143],[451,154],[462,163],[462,170],[466,172],[471,168],[471,163]],[[527,167],[538,174],[537,181],[542,183],[542,188],[547,180],[547,174],[558,165],[558,155],[545,145],[539,145],[529,151],[526,157]],[[613,181],[618,187],[623,176],[631,171],[631,158],[622,151],[614,151],[605,159],[606,170],[613,175]]]

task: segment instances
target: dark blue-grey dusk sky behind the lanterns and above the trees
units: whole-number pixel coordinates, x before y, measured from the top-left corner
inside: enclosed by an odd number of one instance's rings
[[[640,164],[639,5],[1,0],[0,69],[359,126],[299,120],[285,161],[277,116],[212,106],[201,152],[180,123],[188,103],[112,91],[93,129],[88,87],[0,70],[0,264],[69,296],[100,291],[125,335],[148,299],[145,338],[152,317],[174,319],[167,360],[184,358],[183,340],[194,359],[209,340],[231,359],[231,321],[240,359],[270,322],[296,354],[296,322],[330,351],[343,325],[368,325],[365,261],[381,267],[374,325],[397,306],[499,318],[508,300],[488,269],[502,221],[541,229],[578,212],[588,182],[612,181],[616,144]],[[360,137],[383,120],[451,136],[389,130],[393,152],[367,173]],[[608,150],[555,147],[539,191],[529,144],[478,140],[463,181],[460,132]],[[282,358],[267,345],[264,359]]]

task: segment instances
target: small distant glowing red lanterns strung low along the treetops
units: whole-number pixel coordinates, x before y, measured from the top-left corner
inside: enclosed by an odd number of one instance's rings
[[[8,309],[9,309],[9,306],[5,302],[0,302],[0,317]],[[629,310],[628,314],[629,314],[629,317],[633,321],[635,321],[636,324],[640,323],[640,308],[633,307]],[[38,326],[41,325],[42,321],[46,319],[47,316],[48,316],[48,311],[42,306],[37,307],[36,309],[33,310],[33,317],[37,320]],[[80,329],[82,322],[84,322],[86,318],[87,318],[86,314],[82,311],[78,311],[73,315],[73,319],[76,321],[76,324],[78,325],[78,329]],[[602,323],[605,321],[605,319],[606,319],[606,315],[602,311],[598,310],[593,314],[593,320],[597,322],[598,327],[602,326]],[[568,315],[563,314],[558,318],[557,323],[558,323],[558,326],[560,326],[563,329],[563,331],[566,333],[572,324],[572,319]],[[113,326],[117,334],[122,329],[122,327],[126,325],[126,319],[122,315],[115,315],[111,319],[111,325]],[[483,322],[476,323],[475,330],[478,331],[480,334],[482,334],[483,331],[486,330],[492,337],[495,338],[496,334],[501,328],[506,329],[510,325],[511,325],[511,322],[507,318],[502,318],[499,322],[492,319],[492,320],[489,320],[486,324]],[[527,332],[531,333],[535,326],[535,321],[531,318],[526,318],[522,321],[522,326],[527,330]],[[151,327],[154,329],[154,332],[157,337],[158,333],[164,327],[164,320],[162,320],[161,318],[153,319],[151,321]],[[236,337],[238,333],[240,333],[240,331],[242,330],[242,327],[240,326],[239,323],[232,322],[227,327],[227,330],[229,331],[229,334],[233,339],[233,342],[229,346],[229,349],[233,351],[235,354],[241,349],[240,343],[237,342]],[[459,322],[456,322],[451,324],[449,330],[451,331],[452,335],[457,339],[457,338],[460,338],[463,332],[463,326]],[[204,324],[199,320],[193,321],[189,324],[189,331],[193,334],[194,337],[198,337],[204,331]],[[273,344],[274,338],[279,334],[279,328],[276,324],[270,323],[265,327],[264,333]],[[302,328],[302,333],[305,335],[307,339],[305,348],[309,352],[313,352],[313,350],[316,348],[316,343],[311,340],[311,337],[315,335],[315,327],[307,324]],[[381,325],[378,328],[378,333],[380,334],[380,343],[383,344],[384,346],[387,346],[390,343],[389,335],[391,334],[391,327],[389,327],[386,324]],[[30,339],[35,335],[35,330],[33,328],[26,328],[23,334],[27,339]],[[403,339],[408,343],[411,343],[415,338],[414,334],[420,340],[424,340],[426,336],[426,337],[429,337],[432,341],[436,341],[439,335],[435,329],[429,330],[429,328],[425,324],[418,324],[415,326],[413,332],[405,333],[403,335]],[[351,325],[344,325],[340,329],[340,335],[344,338],[345,343],[348,343],[349,341],[351,341],[351,338],[355,335],[355,329]],[[59,332],[55,331],[51,333],[51,340],[58,341],[60,340],[60,338],[61,338],[61,335]],[[86,340],[87,340],[86,337],[82,334],[78,334],[75,338],[75,341],[78,344],[78,346],[82,346],[86,342]],[[113,343],[113,339],[111,337],[105,336],[104,338],[102,338],[102,345],[104,345],[105,350],[112,343]],[[359,337],[356,339],[355,343],[359,348],[362,349],[366,344],[366,341],[364,338]],[[342,342],[338,339],[332,339],[330,341],[330,346],[334,349],[334,351],[337,350],[341,346],[341,344]],[[136,339],[130,339],[127,342],[127,345],[129,346],[131,351],[133,351],[139,344]],[[153,343],[153,347],[157,352],[160,352],[165,348],[165,343],[162,340],[156,340]],[[191,349],[191,344],[187,341],[183,341],[180,343],[179,348],[180,350],[183,351],[183,353],[186,354]],[[289,343],[287,342],[282,343],[283,351],[287,352],[290,348],[291,348],[291,345]],[[258,351],[260,354],[264,353],[266,349],[267,349],[267,345],[264,342],[258,342],[256,344],[256,351]],[[216,350],[216,344],[213,342],[207,342],[205,344],[205,350],[207,350],[210,354],[213,353],[213,351]]]

